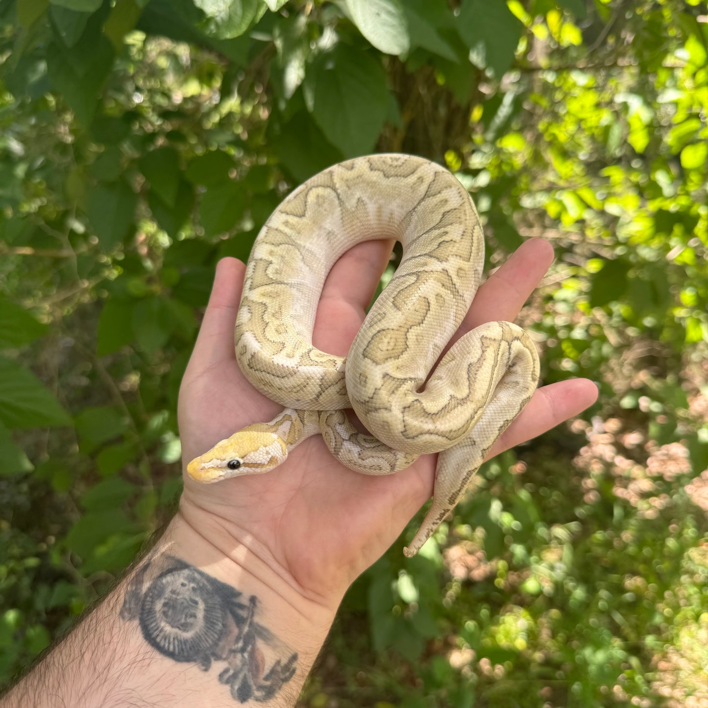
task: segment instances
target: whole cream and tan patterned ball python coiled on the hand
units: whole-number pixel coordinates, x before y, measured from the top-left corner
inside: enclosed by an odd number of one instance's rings
[[[329,270],[372,239],[401,241],[399,267],[346,358],[316,349],[312,330]],[[311,435],[362,474],[392,474],[438,452],[432,506],[404,549],[413,556],[539,377],[534,343],[510,322],[476,327],[440,358],[472,304],[483,263],[472,198],[433,162],[364,156],[304,182],[253,244],[234,332],[241,371],[285,410],[218,442],[188,464],[188,474],[215,482],[268,472]],[[360,433],[345,409],[371,434]]]

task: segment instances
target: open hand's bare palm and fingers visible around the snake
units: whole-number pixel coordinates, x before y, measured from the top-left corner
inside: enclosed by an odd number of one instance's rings
[[[346,355],[388,261],[392,243],[369,241],[345,253],[326,280],[313,342]],[[477,292],[456,337],[487,321],[513,321],[553,258],[546,241],[532,239]],[[215,442],[281,406],[256,391],[239,370],[234,323],[245,266],[224,258],[217,275],[178,406],[183,467]],[[543,433],[593,403],[588,379],[537,390],[496,442],[490,457]],[[200,484],[185,474],[184,515],[222,525],[249,552],[287,573],[309,595],[341,597],[349,584],[399,536],[431,496],[435,455],[389,476],[366,476],[336,462],[319,436],[309,438],[277,469]]]

